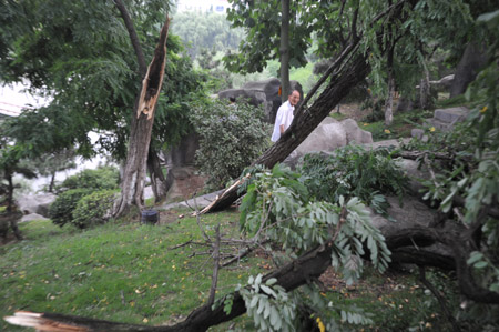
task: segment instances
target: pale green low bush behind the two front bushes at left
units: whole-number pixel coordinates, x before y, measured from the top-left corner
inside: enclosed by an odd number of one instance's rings
[[[116,189],[120,181],[120,172],[113,167],[102,167],[95,170],[83,170],[72,177],[67,178],[58,191],[67,191],[78,188],[92,190]]]

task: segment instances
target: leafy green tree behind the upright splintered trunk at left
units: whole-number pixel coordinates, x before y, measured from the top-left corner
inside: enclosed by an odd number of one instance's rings
[[[151,59],[156,43],[153,31],[163,23],[167,6],[159,0],[126,4],[144,58]],[[7,48],[2,49],[6,57],[0,59],[0,79],[24,79],[31,88],[41,88],[52,98],[49,105],[27,112],[23,121],[35,124],[35,130],[17,130],[17,139],[30,147],[30,142],[43,139],[40,133],[51,131],[49,138],[53,140],[48,142],[54,142],[58,149],[72,145],[84,157],[104,152],[124,159],[140,74],[115,6],[111,1],[61,4],[24,0],[3,1],[3,8],[1,29],[9,27],[9,31],[1,36]],[[165,95],[160,95],[156,107],[151,159],[192,130],[186,120],[190,103],[203,95],[204,77],[193,70],[187,57],[182,57],[180,39],[169,38],[167,49],[165,78],[172,83],[165,87]],[[50,130],[44,125],[55,123]],[[95,144],[91,144],[90,131],[100,133]],[[150,170],[154,172],[151,178],[161,182],[162,171],[156,167]],[[161,195],[161,183],[157,188],[155,192]]]

